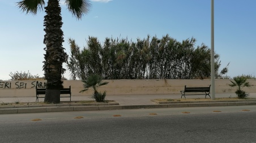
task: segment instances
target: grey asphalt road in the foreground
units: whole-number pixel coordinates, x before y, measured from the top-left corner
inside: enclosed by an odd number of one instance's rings
[[[253,143],[255,119],[256,106],[5,114],[0,142]]]

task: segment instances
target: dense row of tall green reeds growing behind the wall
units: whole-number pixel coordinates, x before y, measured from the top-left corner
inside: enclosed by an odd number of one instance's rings
[[[204,79],[211,76],[211,50],[204,44],[195,47],[195,38],[182,42],[170,37],[156,36],[127,39],[105,38],[103,45],[97,37],[88,37],[82,50],[69,39],[71,57],[67,67],[71,79],[86,79],[98,74],[104,79]],[[216,78],[228,72],[219,72],[219,55],[215,54]]]

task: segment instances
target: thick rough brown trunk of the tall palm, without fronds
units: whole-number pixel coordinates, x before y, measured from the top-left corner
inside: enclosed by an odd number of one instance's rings
[[[63,32],[61,7],[58,0],[49,0],[45,7],[46,15],[44,16],[44,44],[46,47],[44,61],[44,75],[46,82],[45,102],[59,103],[60,89],[63,88],[61,81],[62,73],[65,71],[62,68],[62,63],[66,62],[67,54],[62,47]]]

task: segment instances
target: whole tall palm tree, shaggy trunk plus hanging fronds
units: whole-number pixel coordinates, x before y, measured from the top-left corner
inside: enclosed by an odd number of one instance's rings
[[[88,0],[66,0],[66,5],[72,15],[79,20],[84,14],[89,12],[91,3]],[[23,0],[17,2],[17,6],[23,12],[37,14],[37,11],[43,10],[45,5],[44,0]],[[62,74],[65,69],[62,68],[62,63],[67,61],[68,55],[62,47],[63,32],[62,32],[62,17],[59,0],[48,0],[45,8],[46,15],[44,16],[44,75],[46,82],[45,102],[59,103],[60,89],[63,88],[61,81]]]

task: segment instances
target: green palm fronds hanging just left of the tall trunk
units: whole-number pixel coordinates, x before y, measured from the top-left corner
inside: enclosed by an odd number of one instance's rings
[[[37,11],[43,10],[44,5],[44,0],[23,0],[16,4],[22,12],[26,11],[27,14],[31,13],[33,15],[36,15]]]

